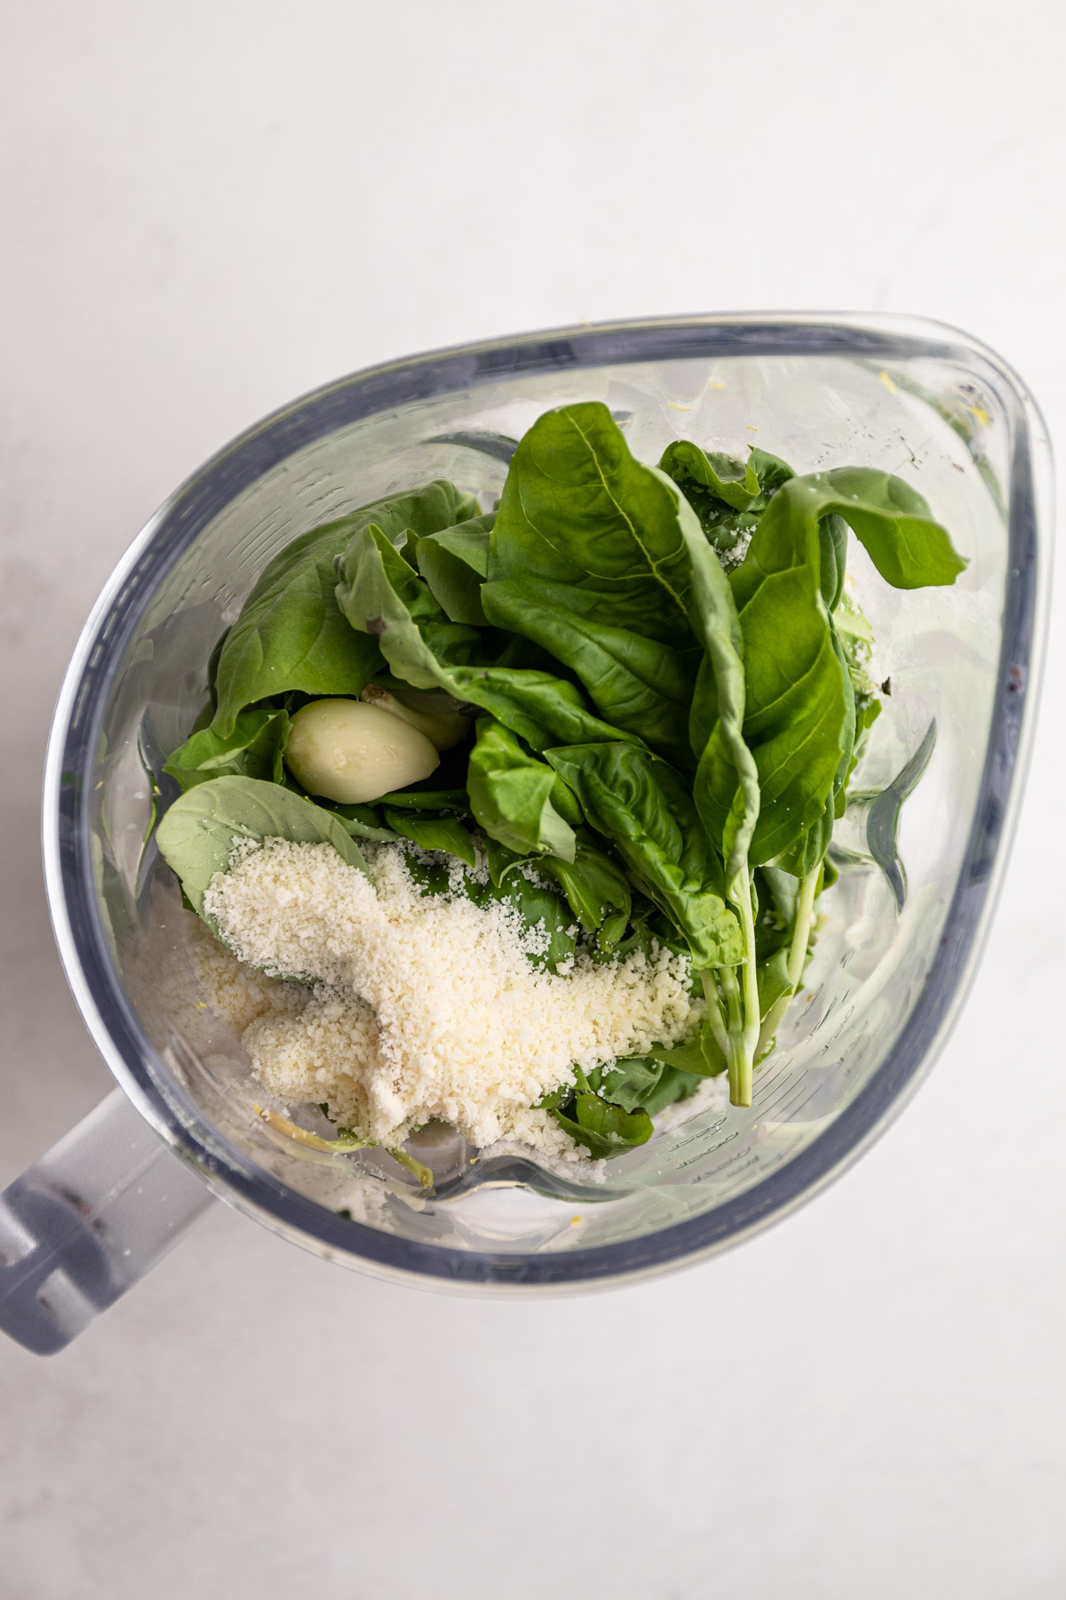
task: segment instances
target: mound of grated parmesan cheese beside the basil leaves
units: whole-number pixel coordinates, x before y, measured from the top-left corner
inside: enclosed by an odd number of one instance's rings
[[[682,955],[596,963],[579,949],[566,974],[548,973],[529,962],[543,926],[475,906],[463,869],[451,893],[422,894],[403,848],[366,856],[363,874],[329,845],[243,845],[205,896],[230,949],[262,970],[238,968],[243,995],[232,971],[213,973],[213,1005],[243,1022],[253,1070],[291,1104],[324,1102],[387,1146],[438,1118],[481,1147],[510,1138],[580,1158],[534,1102],[575,1064],[676,1045],[703,1016]]]

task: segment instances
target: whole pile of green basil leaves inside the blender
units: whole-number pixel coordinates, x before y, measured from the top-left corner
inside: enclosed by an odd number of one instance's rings
[[[425,893],[447,883],[435,861],[473,867],[479,840],[489,882],[467,893],[542,922],[550,966],[577,938],[596,960],[668,944],[706,1000],[684,1045],[547,1098],[575,1141],[596,1157],[642,1144],[657,1112],[719,1072],[746,1106],[881,709],[844,586],[849,530],[901,590],[965,565],[885,472],[798,475],[767,451],[737,461],[689,440],[649,466],[598,402],[548,411],[495,512],[435,482],[270,562],[166,763],[184,794],[160,850],[201,912],[240,838],[326,840],[353,866],[355,838],[406,843]],[[284,766],[289,717],[371,680],[447,691],[476,712],[470,736],[376,805],[315,803]]]

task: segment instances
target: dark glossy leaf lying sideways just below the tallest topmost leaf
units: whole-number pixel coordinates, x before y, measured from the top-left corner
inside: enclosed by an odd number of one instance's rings
[[[571,589],[548,581],[531,590],[526,581],[507,579],[481,590],[487,619],[571,667],[606,722],[639,734],[674,765],[692,766],[689,706],[698,651],[579,616],[571,598]]]

